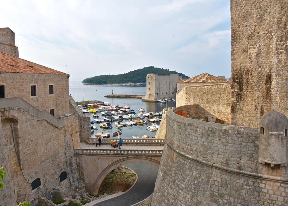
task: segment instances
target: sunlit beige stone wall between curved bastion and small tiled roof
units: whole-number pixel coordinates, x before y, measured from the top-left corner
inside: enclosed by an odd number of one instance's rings
[[[176,95],[176,107],[200,105],[198,114],[208,117],[209,122],[216,118],[231,123],[231,83],[206,84],[184,87]]]

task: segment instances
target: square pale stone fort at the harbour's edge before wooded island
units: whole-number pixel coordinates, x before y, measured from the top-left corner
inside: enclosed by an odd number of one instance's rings
[[[146,95],[143,100],[155,101],[157,99],[176,98],[176,82],[179,80],[182,80],[182,77],[178,74],[147,74]]]

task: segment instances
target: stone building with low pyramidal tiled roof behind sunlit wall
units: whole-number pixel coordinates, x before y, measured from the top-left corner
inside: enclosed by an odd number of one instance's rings
[[[227,81],[205,72],[205,73],[199,74],[195,77],[191,77],[190,79],[184,79],[182,81],[177,82],[177,94],[185,86],[195,86],[195,85],[203,85],[203,84],[217,84],[217,83],[227,83]]]

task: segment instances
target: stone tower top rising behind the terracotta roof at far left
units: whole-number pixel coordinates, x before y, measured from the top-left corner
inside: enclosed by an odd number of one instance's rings
[[[18,47],[15,46],[15,33],[6,28],[0,28],[0,51],[19,57]]]

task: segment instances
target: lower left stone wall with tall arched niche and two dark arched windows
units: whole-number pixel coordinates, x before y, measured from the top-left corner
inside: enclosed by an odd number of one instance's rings
[[[79,180],[74,155],[74,147],[79,147],[77,115],[65,117],[64,126],[57,128],[22,108],[1,109],[0,114],[17,201],[37,205],[38,197],[50,198],[53,187],[72,192]],[[62,171],[67,179],[60,182]],[[30,183],[36,178],[41,186],[32,190]]]

